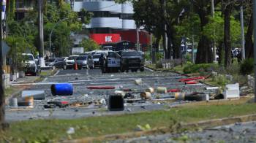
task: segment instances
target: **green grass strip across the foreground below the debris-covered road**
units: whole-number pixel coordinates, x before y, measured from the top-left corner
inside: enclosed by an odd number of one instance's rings
[[[89,136],[121,134],[135,131],[137,125],[151,128],[170,127],[173,123],[192,123],[221,117],[256,114],[256,104],[208,104],[182,106],[154,112],[86,117],[74,120],[26,120],[10,123],[7,131],[0,133],[0,142],[58,142]],[[68,128],[74,134],[67,134]]]

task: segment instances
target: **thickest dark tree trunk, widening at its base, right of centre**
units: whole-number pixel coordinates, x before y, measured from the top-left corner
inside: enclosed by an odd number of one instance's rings
[[[203,26],[208,23],[208,11],[207,9],[198,9],[197,14],[200,17],[200,31],[203,31]],[[211,41],[206,37],[201,35],[197,47],[197,56],[195,63],[211,63],[212,62],[212,50]]]

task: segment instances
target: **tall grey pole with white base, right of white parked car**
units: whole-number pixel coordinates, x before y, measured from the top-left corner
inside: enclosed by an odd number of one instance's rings
[[[44,27],[42,17],[42,0],[38,0],[38,33],[39,33],[39,65],[45,67],[44,60]]]

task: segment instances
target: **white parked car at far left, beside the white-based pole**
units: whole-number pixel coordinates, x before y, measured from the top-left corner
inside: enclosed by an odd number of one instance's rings
[[[22,61],[19,68],[23,69],[25,74],[39,75],[40,68],[31,53],[22,53]]]

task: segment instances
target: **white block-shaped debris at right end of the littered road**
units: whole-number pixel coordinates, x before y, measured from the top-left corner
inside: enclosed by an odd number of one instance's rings
[[[239,83],[226,85],[223,94],[225,99],[239,98],[240,97]]]

